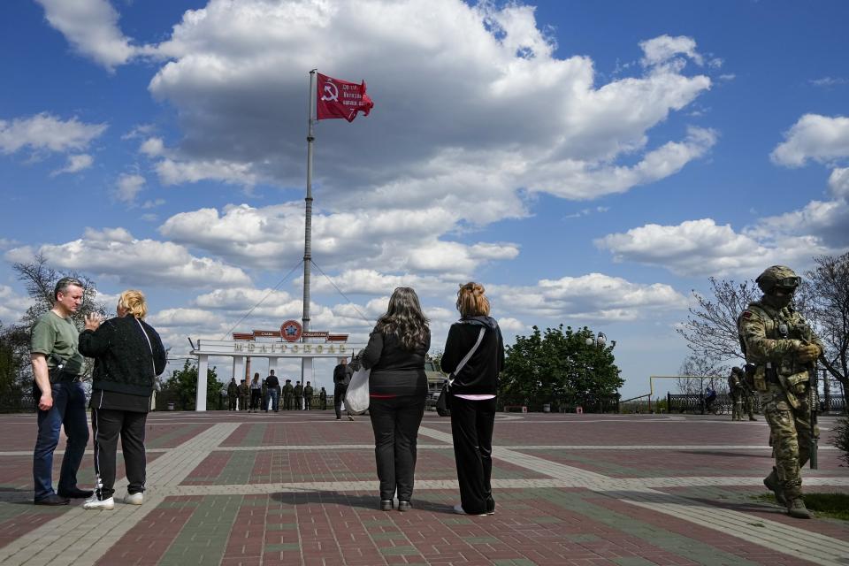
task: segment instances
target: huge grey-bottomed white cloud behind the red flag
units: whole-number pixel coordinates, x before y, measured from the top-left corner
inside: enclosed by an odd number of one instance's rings
[[[648,146],[647,132],[705,92],[707,76],[652,65],[597,85],[590,58],[554,48],[533,9],[515,4],[211,0],[157,46],[170,60],[149,90],[176,108],[183,136],[144,151],[163,154],[155,166],[165,184],[302,186],[302,136],[281,132],[303,130],[306,73],[321,61],[333,61],[325,73],[367,80],[377,104],[355,125],[317,126],[316,181],[333,210],[378,197],[401,208],[415,193],[458,201],[459,214],[486,224],[526,214],[520,188],[623,192],[674,174],[714,142]],[[654,63],[702,62],[691,38],[643,48]],[[639,165],[618,163],[626,158]]]

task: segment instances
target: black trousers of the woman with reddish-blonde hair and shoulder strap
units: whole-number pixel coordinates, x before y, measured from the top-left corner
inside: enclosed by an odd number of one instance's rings
[[[460,504],[470,515],[495,509],[493,488],[493,426],[495,400],[470,401],[455,397],[451,402],[451,436],[460,483]]]

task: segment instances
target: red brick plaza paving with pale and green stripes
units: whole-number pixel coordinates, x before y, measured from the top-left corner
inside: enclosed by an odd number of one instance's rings
[[[833,424],[807,491],[849,493]],[[0,564],[849,564],[849,524],[750,498],[765,492],[768,431],[727,416],[499,415],[497,511],[470,517],[451,512],[450,424],[434,413],[409,513],[375,509],[368,417],[152,413],[145,504],[83,511],[31,504],[34,416],[0,416]],[[92,479],[89,451],[80,485]]]

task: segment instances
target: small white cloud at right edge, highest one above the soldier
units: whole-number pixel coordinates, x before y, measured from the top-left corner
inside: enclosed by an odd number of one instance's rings
[[[774,163],[786,167],[800,167],[808,159],[830,163],[849,157],[849,118],[805,114],[784,138],[769,156]]]

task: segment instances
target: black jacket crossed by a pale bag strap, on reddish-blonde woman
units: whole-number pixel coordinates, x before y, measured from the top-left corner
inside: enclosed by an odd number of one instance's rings
[[[504,341],[493,317],[463,317],[448,330],[442,371],[454,373],[460,361],[478,341],[480,329],[484,338],[469,361],[454,376],[452,394],[494,395],[498,393],[498,374],[504,367]]]

